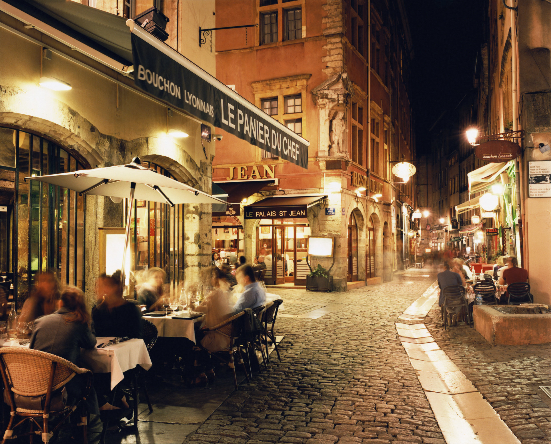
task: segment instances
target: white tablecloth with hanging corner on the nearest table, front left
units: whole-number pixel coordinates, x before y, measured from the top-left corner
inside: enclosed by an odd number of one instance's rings
[[[113,338],[97,339],[99,345]],[[152,366],[143,339],[128,339],[101,349],[82,350],[80,356],[85,366],[94,373],[111,373],[111,390],[123,380],[123,372],[138,365],[145,370]]]

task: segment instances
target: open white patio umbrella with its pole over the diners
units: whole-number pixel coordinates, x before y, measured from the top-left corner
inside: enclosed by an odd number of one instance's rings
[[[168,203],[171,207],[179,203],[223,203],[216,197],[204,193],[186,185],[158,174],[155,170],[142,166],[139,158],[132,159],[126,165],[107,166],[93,170],[78,170],[49,174],[46,176],[25,177],[25,181],[37,180],[51,183],[63,188],[76,191],[79,196],[95,194],[96,196],[109,196],[128,198],[130,207],[134,199],[140,201],[154,201]],[[130,237],[130,221],[132,211],[128,211],[126,223],[125,251],[122,255],[121,286],[125,279],[125,261],[128,240]]]

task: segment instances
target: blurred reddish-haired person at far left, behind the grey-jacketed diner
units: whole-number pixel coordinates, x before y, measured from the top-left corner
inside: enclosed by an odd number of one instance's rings
[[[52,270],[42,272],[30,296],[25,300],[19,321],[30,322],[57,310],[57,301],[61,296],[61,284]]]

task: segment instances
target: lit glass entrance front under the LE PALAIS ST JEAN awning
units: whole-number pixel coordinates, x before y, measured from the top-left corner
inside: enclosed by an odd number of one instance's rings
[[[264,256],[268,285],[306,285],[310,273],[306,263],[308,219],[261,219],[256,233],[256,256]]]

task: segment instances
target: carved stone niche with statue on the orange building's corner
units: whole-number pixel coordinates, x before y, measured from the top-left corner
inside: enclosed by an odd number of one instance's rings
[[[344,160],[347,166],[350,162],[347,117],[350,98],[354,94],[347,73],[335,74],[312,90],[312,99],[318,108],[317,160],[322,170],[326,169],[327,160]]]

